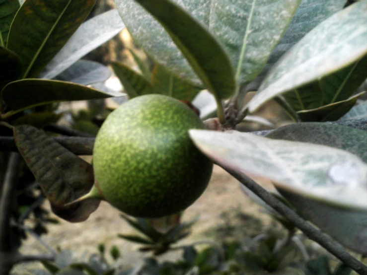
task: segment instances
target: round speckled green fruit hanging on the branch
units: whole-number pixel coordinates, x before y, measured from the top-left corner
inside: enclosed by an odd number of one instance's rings
[[[93,149],[104,200],[136,217],[157,218],[193,204],[206,189],[213,162],[191,141],[199,117],[171,97],[136,97],[113,111]]]

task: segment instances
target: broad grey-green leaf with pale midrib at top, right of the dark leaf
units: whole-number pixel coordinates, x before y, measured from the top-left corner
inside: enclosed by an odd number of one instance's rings
[[[300,0],[212,1],[209,25],[236,68],[239,85],[264,68]]]

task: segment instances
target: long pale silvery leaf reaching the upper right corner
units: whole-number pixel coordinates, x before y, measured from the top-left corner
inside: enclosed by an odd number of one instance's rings
[[[249,111],[254,112],[281,93],[324,78],[363,58],[367,53],[366,16],[366,0],[361,0],[310,31],[269,72],[249,102]]]

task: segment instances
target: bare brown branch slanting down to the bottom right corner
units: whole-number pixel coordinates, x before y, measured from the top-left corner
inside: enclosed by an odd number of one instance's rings
[[[224,168],[234,178],[239,180],[248,189],[254,192],[269,206],[272,206],[277,212],[292,221],[309,239],[314,240],[315,242],[320,244],[344,264],[355,270],[358,274],[367,275],[367,266],[365,266],[352,255],[350,255],[342,245],[332,240],[324,233],[322,233],[319,229],[302,219],[291,208],[283,204],[272,194],[268,193],[264,188],[262,188],[245,174],[239,172],[238,170],[231,169],[222,165],[221,167]]]

